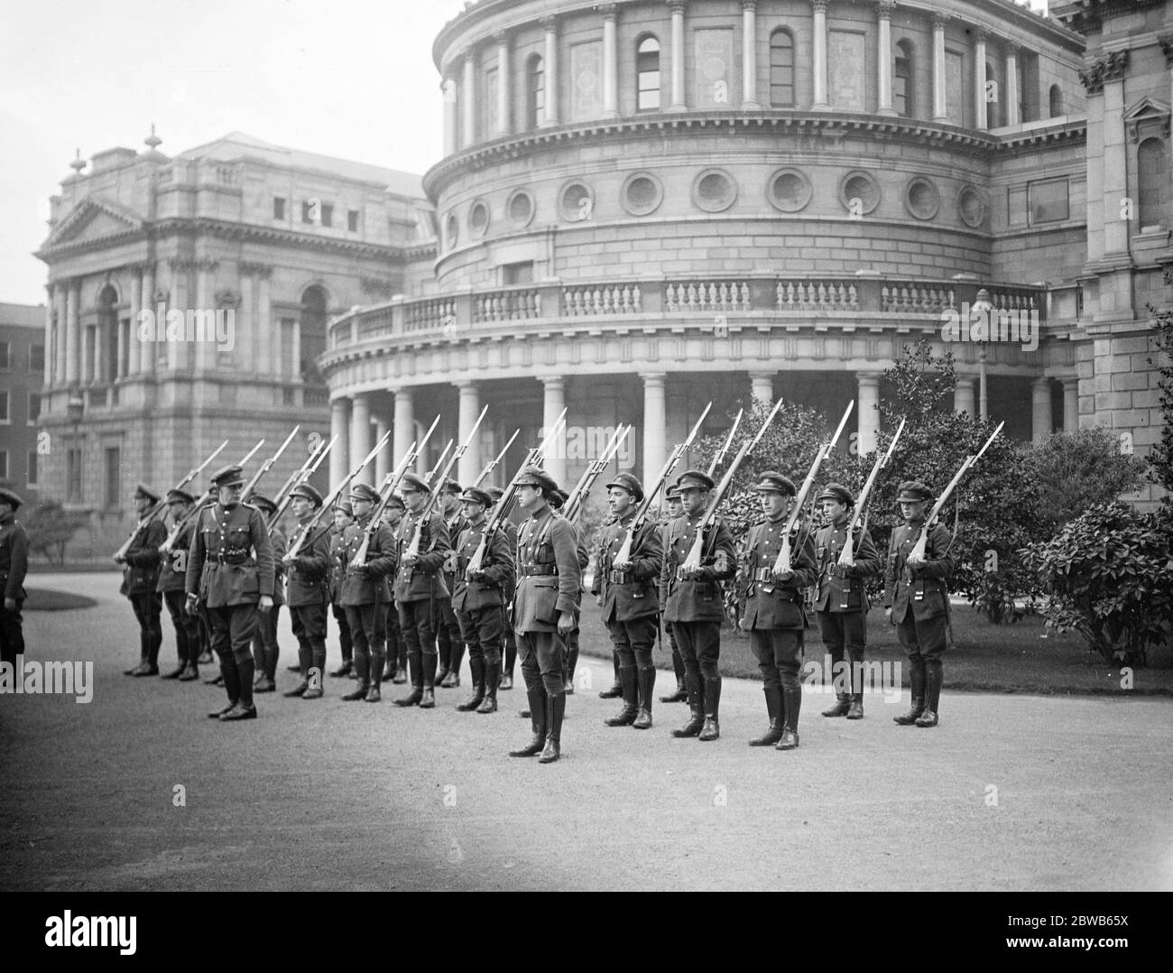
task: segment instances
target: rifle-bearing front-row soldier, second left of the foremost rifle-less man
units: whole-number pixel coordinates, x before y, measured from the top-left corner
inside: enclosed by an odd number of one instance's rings
[[[438,599],[447,599],[441,568],[452,545],[443,515],[433,508],[420,533],[420,548],[415,555],[408,554],[415,526],[427,506],[428,485],[414,473],[406,473],[400,480],[407,513],[395,533],[395,606],[399,608],[399,628],[407,643],[407,662],[412,675],[412,691],[401,700],[399,707],[432,709],[436,704],[436,634],[440,619]]]

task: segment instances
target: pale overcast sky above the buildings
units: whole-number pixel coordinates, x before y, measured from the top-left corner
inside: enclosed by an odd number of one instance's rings
[[[1042,0],[1021,0],[1036,7]],[[69,162],[239,130],[422,174],[441,151],[432,42],[462,0],[0,0],[0,303],[45,302],[30,256]]]

